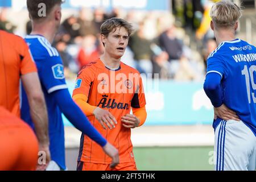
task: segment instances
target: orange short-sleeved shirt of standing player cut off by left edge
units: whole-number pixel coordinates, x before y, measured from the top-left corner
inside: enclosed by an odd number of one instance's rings
[[[36,72],[28,46],[19,36],[0,30],[0,105],[20,117],[20,75]]]

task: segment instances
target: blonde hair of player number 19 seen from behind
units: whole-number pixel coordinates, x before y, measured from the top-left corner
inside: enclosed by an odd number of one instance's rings
[[[233,27],[241,16],[241,7],[229,0],[215,3],[210,10],[210,18],[217,27]]]

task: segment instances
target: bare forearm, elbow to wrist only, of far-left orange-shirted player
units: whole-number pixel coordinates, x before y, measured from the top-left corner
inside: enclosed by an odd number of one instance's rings
[[[28,97],[28,102],[30,103],[30,115],[35,125],[39,144],[48,145],[48,115],[43,93],[32,98]]]

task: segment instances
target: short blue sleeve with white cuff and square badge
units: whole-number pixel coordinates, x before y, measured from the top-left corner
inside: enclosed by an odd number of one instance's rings
[[[47,56],[37,61],[37,64],[40,81],[48,93],[68,88],[60,56]]]

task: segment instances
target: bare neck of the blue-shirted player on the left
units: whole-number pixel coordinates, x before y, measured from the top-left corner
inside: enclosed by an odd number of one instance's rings
[[[48,24],[33,24],[31,35],[42,35],[52,44],[56,31]]]

